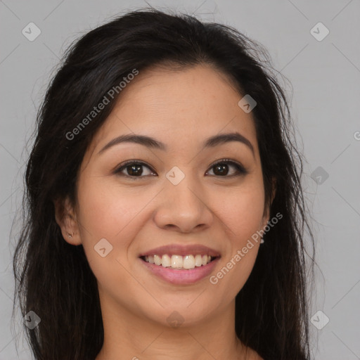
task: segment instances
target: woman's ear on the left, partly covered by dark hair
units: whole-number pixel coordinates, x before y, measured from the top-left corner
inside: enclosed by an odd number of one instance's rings
[[[77,216],[70,199],[53,200],[55,206],[55,219],[60,226],[64,240],[71,245],[81,245],[82,240],[79,233]]]

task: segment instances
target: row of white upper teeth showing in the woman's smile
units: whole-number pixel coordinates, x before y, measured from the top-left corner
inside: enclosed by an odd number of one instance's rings
[[[172,267],[173,269],[194,269],[195,267],[205,266],[211,262],[212,257],[210,255],[172,255],[171,257],[167,254],[159,255],[148,255],[145,257],[145,261],[150,264],[155,264],[163,267]]]

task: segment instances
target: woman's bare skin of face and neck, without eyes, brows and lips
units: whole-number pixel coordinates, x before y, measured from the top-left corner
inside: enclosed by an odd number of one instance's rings
[[[98,281],[105,340],[96,360],[262,359],[246,349],[234,330],[235,297],[247,281],[259,242],[214,285],[209,277],[174,285],[139,265],[141,252],[167,244],[202,244],[221,253],[211,275],[223,268],[252,234],[264,228],[264,185],[251,113],[224,74],[205,65],[186,70],[154,68],[140,73],[120,94],[116,107],[86,151],[77,178],[77,206],[66,199],[65,216],[56,204],[63,237],[82,244]],[[238,141],[202,149],[209,136],[238,131],[254,148]],[[143,134],[162,141],[167,151],[121,143],[101,155],[122,134]],[[211,165],[230,158],[247,169],[216,173]],[[141,160],[141,178],[113,169]],[[185,178],[176,186],[165,175],[179,167]],[[128,168],[129,170],[129,168]],[[150,176],[150,174],[158,176]],[[134,176],[133,176],[134,177]],[[69,238],[68,233],[72,233]],[[94,245],[106,238],[106,257]],[[184,318],[173,328],[167,317]],[[221,335],[220,335],[221,334]]]

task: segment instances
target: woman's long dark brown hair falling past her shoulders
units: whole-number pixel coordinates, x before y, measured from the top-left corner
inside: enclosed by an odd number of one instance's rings
[[[266,206],[270,218],[283,215],[265,233],[250,278],[236,296],[236,334],[265,360],[310,359],[305,231],[313,254],[314,237],[300,184],[304,159],[269,59],[260,44],[232,27],[154,8],[118,16],[70,46],[37,115],[25,173],[23,229],[13,257],[15,302],[18,297],[23,315],[34,311],[41,318],[33,330],[24,327],[35,359],[92,360],[103,345],[96,278],[82,245],[63,239],[53,200],[68,196],[76,204],[79,166],[117,94],[75,139],[66,134],[132,70],[198,64],[227,75],[239,94],[257,102],[252,117]],[[314,258],[309,259],[312,269]]]

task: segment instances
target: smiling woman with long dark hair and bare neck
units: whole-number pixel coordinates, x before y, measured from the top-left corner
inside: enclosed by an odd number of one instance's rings
[[[302,160],[271,74],[233,28],[153,8],[70,48],[14,255],[36,359],[309,359]]]

